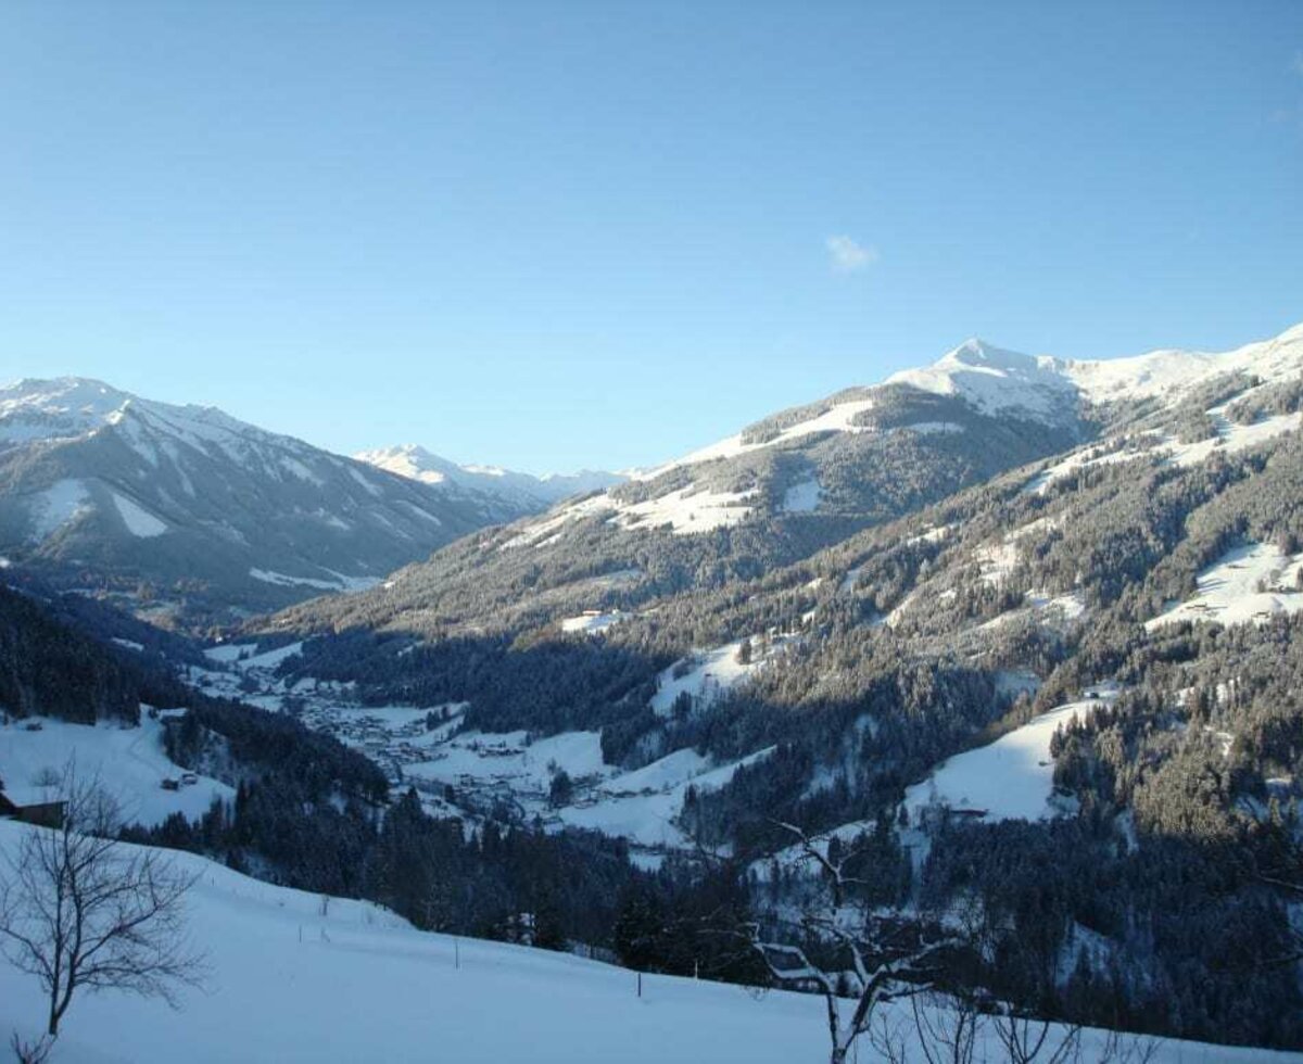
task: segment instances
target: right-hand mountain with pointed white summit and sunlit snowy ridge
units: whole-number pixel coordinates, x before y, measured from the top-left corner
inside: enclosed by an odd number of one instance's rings
[[[969,340],[932,365],[779,412],[628,483],[480,533],[396,574],[383,602],[314,603],[287,624],[412,630],[443,616],[511,626],[721,587],[1053,456],[1066,457],[1036,474],[1045,483],[1135,449],[1186,464],[1255,445],[1296,427],[1296,414],[1227,427],[1218,388],[1265,395],[1300,374],[1303,326],[1220,354],[1106,361]]]

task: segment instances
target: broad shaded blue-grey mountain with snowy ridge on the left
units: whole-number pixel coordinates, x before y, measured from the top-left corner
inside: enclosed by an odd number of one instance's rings
[[[220,617],[378,582],[502,520],[220,410],[81,378],[0,388],[0,556]]]

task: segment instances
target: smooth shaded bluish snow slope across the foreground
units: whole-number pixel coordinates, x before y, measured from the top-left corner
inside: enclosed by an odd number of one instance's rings
[[[0,858],[29,831],[0,822]],[[378,906],[249,879],[190,854],[202,988],[180,1008],[78,992],[51,1064],[818,1064],[823,1004],[645,975],[564,953],[423,934]],[[889,1013],[903,1021],[907,1008]],[[36,982],[0,961],[0,1033],[40,1031]],[[1087,1055],[1098,1044],[1088,1033]],[[989,1059],[1001,1059],[990,1046]],[[861,1046],[870,1059],[869,1046]],[[1161,1064],[1277,1064],[1287,1054],[1164,1043]]]

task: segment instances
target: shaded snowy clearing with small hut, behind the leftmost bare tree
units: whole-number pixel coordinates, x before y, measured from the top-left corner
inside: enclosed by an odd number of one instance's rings
[[[40,731],[29,731],[39,724]],[[215,797],[235,798],[219,780],[198,776],[197,783],[164,791],[163,780],[179,779],[179,768],[163,751],[163,725],[141,714],[139,728],[100,723],[69,724],[50,718],[26,718],[0,725],[0,780],[8,788],[42,791],[61,776],[69,759],[79,780],[98,780],[121,806],[128,823],[158,824],[173,813],[202,817]]]

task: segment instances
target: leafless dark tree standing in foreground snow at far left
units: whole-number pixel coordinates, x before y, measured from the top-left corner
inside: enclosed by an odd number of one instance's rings
[[[117,841],[117,805],[94,780],[64,772],[64,819],[33,827],[0,866],[0,949],[35,975],[48,998],[46,1030],[77,990],[122,990],[176,1005],[203,959],[185,938],[184,899],[194,882],[154,850]]]

